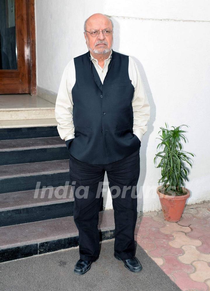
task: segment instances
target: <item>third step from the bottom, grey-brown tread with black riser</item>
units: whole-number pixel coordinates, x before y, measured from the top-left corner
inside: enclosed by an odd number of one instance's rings
[[[69,159],[0,166],[0,193],[57,187],[69,181]]]

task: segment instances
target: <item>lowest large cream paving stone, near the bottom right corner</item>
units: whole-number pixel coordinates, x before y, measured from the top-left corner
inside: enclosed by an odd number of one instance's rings
[[[192,280],[204,282],[205,280],[210,279],[210,267],[207,262],[195,261],[192,265],[196,268],[195,273],[189,274],[189,277]]]

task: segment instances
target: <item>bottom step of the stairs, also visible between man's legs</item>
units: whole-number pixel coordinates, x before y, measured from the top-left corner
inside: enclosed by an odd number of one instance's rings
[[[114,211],[99,212],[100,240],[114,238]],[[74,217],[0,227],[0,262],[78,246]]]

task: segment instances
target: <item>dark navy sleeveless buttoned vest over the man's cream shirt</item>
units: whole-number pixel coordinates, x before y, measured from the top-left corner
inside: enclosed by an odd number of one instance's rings
[[[103,84],[90,51],[74,58],[76,82],[72,88],[75,137],[69,153],[79,161],[109,164],[137,151],[133,134],[134,87],[128,73],[129,56],[112,50]]]

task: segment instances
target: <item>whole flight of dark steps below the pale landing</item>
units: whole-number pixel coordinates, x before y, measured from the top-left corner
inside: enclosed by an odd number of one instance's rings
[[[78,246],[69,153],[57,126],[0,129],[0,262]],[[100,240],[114,214],[99,212]]]

